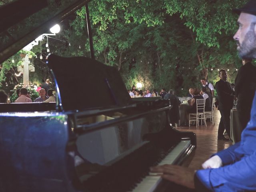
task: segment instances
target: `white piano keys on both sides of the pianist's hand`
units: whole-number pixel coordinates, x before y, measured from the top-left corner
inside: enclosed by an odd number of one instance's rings
[[[182,140],[158,165],[173,164],[189,145],[190,140]],[[160,176],[149,173],[130,192],[153,192],[161,181],[162,178]]]

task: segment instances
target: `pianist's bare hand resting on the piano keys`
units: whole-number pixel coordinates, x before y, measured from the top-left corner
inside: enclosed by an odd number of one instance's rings
[[[162,165],[150,168],[151,172],[159,173],[162,178],[176,184],[194,189],[195,170],[178,165]]]

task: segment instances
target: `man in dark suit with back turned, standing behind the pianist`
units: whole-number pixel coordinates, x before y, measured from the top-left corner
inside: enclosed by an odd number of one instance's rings
[[[240,67],[235,80],[237,110],[242,130],[250,120],[252,100],[256,90],[256,66],[251,62],[252,59],[243,59],[243,66]]]

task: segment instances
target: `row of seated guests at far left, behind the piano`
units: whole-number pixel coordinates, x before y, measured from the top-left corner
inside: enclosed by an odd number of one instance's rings
[[[48,89],[47,93],[44,88],[39,90],[39,97],[32,101],[28,90],[26,88],[21,88],[16,90],[18,98],[15,100],[15,103],[30,103],[30,102],[56,102],[56,97],[54,96],[55,90]],[[8,95],[4,90],[0,90],[0,103],[8,103]]]

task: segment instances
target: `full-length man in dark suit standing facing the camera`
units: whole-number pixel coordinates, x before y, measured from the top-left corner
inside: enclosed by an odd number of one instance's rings
[[[218,110],[220,110],[220,124],[218,128],[218,140],[229,140],[224,137],[223,132],[226,129],[230,137],[230,110],[233,107],[234,96],[231,84],[227,82],[227,72],[222,69],[219,72],[220,80],[216,82],[215,87],[218,94]]]

